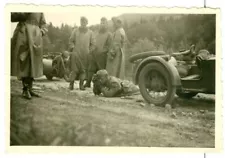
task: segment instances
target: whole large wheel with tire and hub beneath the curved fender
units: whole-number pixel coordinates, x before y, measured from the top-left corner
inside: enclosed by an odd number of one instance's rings
[[[142,97],[148,103],[156,106],[171,104],[175,97],[176,87],[172,85],[171,74],[158,62],[149,63],[142,68],[139,74],[138,85]],[[153,96],[152,93],[160,95]]]

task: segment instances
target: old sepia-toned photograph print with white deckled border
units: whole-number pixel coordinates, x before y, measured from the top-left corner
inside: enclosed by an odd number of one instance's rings
[[[10,147],[219,147],[218,10],[27,8],[7,16]]]

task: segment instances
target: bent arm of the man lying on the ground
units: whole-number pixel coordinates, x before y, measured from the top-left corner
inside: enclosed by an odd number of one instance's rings
[[[102,88],[101,92],[104,97],[115,97],[121,91],[119,83],[112,83],[112,88]]]

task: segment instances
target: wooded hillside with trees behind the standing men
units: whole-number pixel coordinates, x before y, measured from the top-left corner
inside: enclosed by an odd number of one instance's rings
[[[120,18],[123,19],[123,27],[127,35],[126,58],[132,54],[151,50],[177,52],[188,49],[191,44],[196,45],[196,51],[207,49],[210,53],[216,54],[214,14],[132,15],[133,20],[121,15]],[[69,37],[77,26],[62,24],[56,27],[49,23],[47,28],[44,53],[55,53],[68,49]],[[99,25],[92,25],[89,28],[96,33]],[[110,31],[112,31],[111,22]],[[128,62],[126,66],[130,67]]]

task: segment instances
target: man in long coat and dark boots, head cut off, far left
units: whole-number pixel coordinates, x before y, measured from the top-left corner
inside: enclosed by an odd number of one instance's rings
[[[22,79],[23,97],[39,97],[32,91],[34,78],[43,75],[42,36],[47,32],[43,13],[11,13],[18,22],[11,40],[11,75]]]

